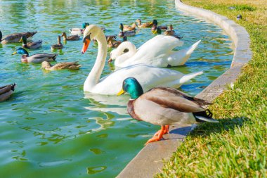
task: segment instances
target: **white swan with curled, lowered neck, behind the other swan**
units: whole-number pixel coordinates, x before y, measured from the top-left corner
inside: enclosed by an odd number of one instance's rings
[[[152,65],[158,68],[184,65],[200,42],[201,40],[179,51],[172,51],[172,49],[176,47],[176,44],[180,45],[182,42],[175,37],[162,34],[148,40],[137,50],[136,46],[131,42],[123,42],[117,49],[110,52],[108,62],[110,63],[112,60],[115,60],[116,68],[123,68],[137,63]],[[175,45],[171,46],[169,45],[170,43]],[[129,52],[123,53],[125,49],[128,49]]]

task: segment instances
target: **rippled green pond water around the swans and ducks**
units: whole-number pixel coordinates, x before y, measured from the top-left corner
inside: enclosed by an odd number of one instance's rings
[[[43,46],[33,53],[52,53],[61,32],[88,22],[117,34],[119,23],[137,18],[173,24],[184,46],[202,42],[189,61],[173,68],[204,75],[184,84],[195,95],[230,67],[232,42],[221,28],[176,10],[174,1],[0,1],[0,30],[5,34],[38,31]],[[68,32],[67,32],[68,34]],[[154,37],[138,30],[129,41],[141,46]],[[21,44],[0,44],[0,85],[16,83],[15,93],[0,103],[1,177],[115,177],[143,148],[159,126],[138,122],[126,113],[129,96],[84,94],[83,84],[97,56],[97,44],[82,55],[82,39],[67,42],[58,62],[79,61],[78,71],[46,72],[40,64],[20,63],[12,56]],[[181,49],[181,47],[177,48]],[[110,51],[109,51],[110,52]],[[112,72],[106,63],[102,76]],[[110,86],[112,87],[112,86]]]

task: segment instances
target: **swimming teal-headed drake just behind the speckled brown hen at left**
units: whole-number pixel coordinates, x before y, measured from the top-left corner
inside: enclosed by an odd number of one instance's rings
[[[20,53],[21,56],[21,62],[22,63],[42,63],[43,61],[55,61],[57,54],[53,53],[35,53],[32,56],[29,56],[29,53],[22,48],[18,48],[15,50],[15,52],[12,54]]]

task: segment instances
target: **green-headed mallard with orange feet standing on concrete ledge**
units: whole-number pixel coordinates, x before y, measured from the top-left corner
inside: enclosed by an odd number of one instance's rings
[[[143,92],[141,84],[128,77],[122,84],[122,90],[117,95],[130,94],[128,113],[136,120],[161,125],[160,129],[146,144],[159,141],[163,134],[169,132],[169,125],[190,125],[198,122],[218,122],[212,118],[212,113],[202,108],[210,105],[208,101],[184,94],[177,89],[155,87]]]

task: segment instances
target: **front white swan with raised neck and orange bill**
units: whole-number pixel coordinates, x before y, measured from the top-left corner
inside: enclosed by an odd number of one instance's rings
[[[178,88],[181,84],[203,73],[194,72],[184,75],[176,70],[138,64],[121,68],[100,79],[108,53],[107,40],[100,27],[89,25],[84,31],[82,53],[86,52],[91,39],[96,39],[98,41],[98,56],[96,58],[96,63],[93,65],[91,72],[84,82],[84,91],[89,91],[94,94],[117,94],[122,88],[122,82],[127,77],[135,77],[142,84],[144,91],[148,91],[148,89],[155,86]]]

